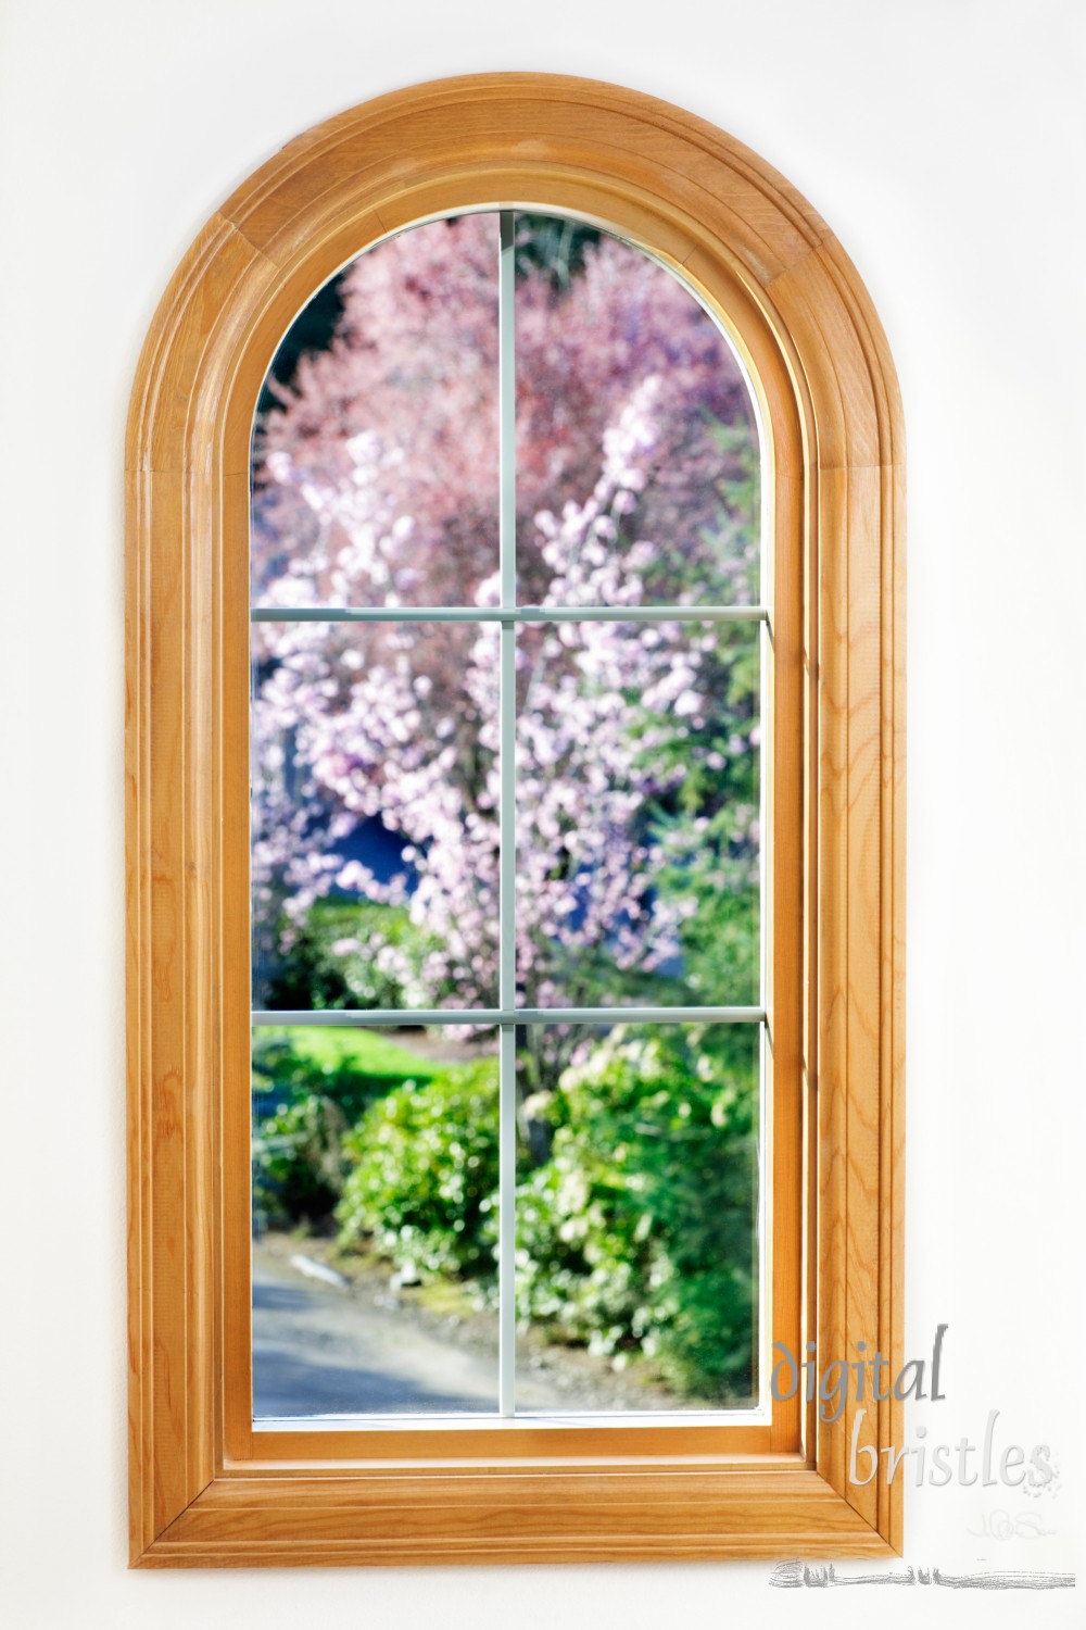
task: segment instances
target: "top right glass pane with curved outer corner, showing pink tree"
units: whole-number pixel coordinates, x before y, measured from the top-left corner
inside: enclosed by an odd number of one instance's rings
[[[619,238],[516,218],[523,605],[754,605],[759,438],[731,346]]]

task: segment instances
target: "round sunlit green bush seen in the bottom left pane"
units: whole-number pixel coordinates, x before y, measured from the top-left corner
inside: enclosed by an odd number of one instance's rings
[[[409,1278],[493,1273],[485,1222],[498,1187],[498,1066],[485,1058],[404,1082],[345,1141],[340,1240],[371,1236]]]

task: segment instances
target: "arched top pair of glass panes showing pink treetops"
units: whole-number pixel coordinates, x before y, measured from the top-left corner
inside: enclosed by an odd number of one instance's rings
[[[614,231],[510,220],[518,601],[757,601],[759,411],[725,324]],[[256,416],[254,605],[497,600],[498,236],[495,210],[404,228],[290,324]]]

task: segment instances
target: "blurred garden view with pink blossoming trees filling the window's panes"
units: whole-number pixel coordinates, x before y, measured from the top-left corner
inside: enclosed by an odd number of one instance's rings
[[[493,606],[498,491],[498,217],[466,215],[358,258],[285,337],[252,603]],[[715,321],[630,244],[519,215],[518,603],[751,606],[759,526]],[[760,1030],[622,1009],[760,1001],[759,680],[757,623],[518,628],[516,1001],[614,1009],[516,1032],[541,1407],[757,1394]],[[254,623],[254,1007],[497,1007],[498,789],[493,623]],[[493,1348],[493,1029],[257,1027],[252,1120],[257,1265],[288,1240],[420,1340]],[[301,1382],[275,1405],[311,1410]]]

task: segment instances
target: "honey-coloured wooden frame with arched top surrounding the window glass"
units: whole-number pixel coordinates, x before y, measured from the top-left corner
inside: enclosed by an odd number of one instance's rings
[[[762,160],[633,91],[498,73],[285,147],[212,217],[129,417],[130,1562],[238,1566],[884,1555],[902,1405],[764,1425],[254,1433],[249,442],[275,347],[345,261],[480,205],[573,212],[728,324],[772,445],[767,1011],[773,1335],[902,1353],[904,432],[871,302]],[[246,1381],[246,1377],[249,1377]]]

